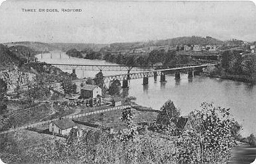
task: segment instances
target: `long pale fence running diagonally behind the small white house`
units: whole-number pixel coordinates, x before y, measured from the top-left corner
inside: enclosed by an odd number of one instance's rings
[[[84,116],[88,116],[88,115],[99,114],[99,113],[106,112],[106,111],[122,110],[122,109],[125,109],[125,108],[131,108],[131,106],[117,106],[117,107],[113,107],[113,108],[91,111],[91,112],[87,112],[87,113],[84,113],[84,114],[77,114],[77,115],[73,115],[73,116],[64,116],[62,118],[73,119],[73,118],[79,118],[79,117],[84,117]],[[42,125],[49,124],[50,122],[56,121],[56,120],[58,120],[58,118],[55,118],[55,119],[52,119],[52,120],[47,120],[47,121],[42,121],[42,122],[37,122],[35,124],[25,125],[25,126],[14,128],[14,129],[9,129],[9,130],[0,132],[0,135],[7,134],[9,132],[14,132],[14,131],[17,131],[17,130],[42,126]]]

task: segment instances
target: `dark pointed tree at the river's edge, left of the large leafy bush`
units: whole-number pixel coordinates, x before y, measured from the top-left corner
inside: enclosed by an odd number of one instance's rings
[[[180,110],[177,109],[173,101],[168,100],[161,107],[161,112],[157,115],[156,124],[162,124],[169,126],[171,124],[176,124],[176,120],[180,117]]]

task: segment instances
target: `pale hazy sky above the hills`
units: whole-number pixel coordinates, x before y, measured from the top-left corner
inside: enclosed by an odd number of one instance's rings
[[[58,12],[38,12],[40,8]],[[62,12],[62,8],[82,12]],[[248,1],[89,0],[7,0],[0,6],[0,43],[110,44],[193,35],[255,41],[256,6]]]

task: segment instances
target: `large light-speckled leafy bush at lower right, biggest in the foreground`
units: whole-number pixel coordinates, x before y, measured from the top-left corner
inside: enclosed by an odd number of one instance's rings
[[[178,160],[184,163],[219,163],[229,160],[237,145],[240,126],[230,109],[203,102],[189,115],[187,129],[179,136]]]

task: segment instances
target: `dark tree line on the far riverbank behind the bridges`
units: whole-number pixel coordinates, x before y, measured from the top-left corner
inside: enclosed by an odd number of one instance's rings
[[[66,54],[72,57],[85,58],[85,59],[103,59],[110,63],[123,64],[123,65],[179,65],[198,63],[198,60],[192,59],[190,56],[178,55],[175,50],[152,50],[150,53],[143,54],[113,54],[110,52],[95,52],[91,49],[78,51],[70,49]]]

